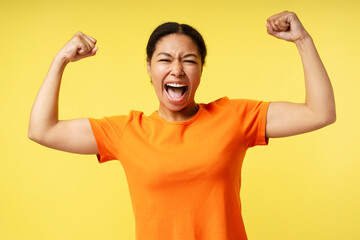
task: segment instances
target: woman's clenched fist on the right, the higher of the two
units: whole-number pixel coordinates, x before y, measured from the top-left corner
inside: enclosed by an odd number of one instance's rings
[[[266,28],[270,35],[294,43],[309,36],[296,14],[288,11],[269,17]]]

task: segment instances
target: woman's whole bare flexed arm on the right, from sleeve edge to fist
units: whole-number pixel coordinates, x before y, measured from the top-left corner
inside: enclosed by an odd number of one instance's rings
[[[271,102],[266,121],[266,137],[286,137],[314,131],[336,120],[335,100],[325,67],[313,39],[293,12],[282,12],[267,20],[267,32],[294,42],[300,53],[306,97],[304,103]]]

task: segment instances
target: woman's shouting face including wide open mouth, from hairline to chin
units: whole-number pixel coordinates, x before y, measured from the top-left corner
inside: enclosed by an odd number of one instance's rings
[[[181,111],[195,104],[202,63],[194,41],[183,34],[161,38],[147,70],[160,101],[159,110]]]

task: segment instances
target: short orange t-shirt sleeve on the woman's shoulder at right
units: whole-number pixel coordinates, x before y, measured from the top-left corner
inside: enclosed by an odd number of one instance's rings
[[[230,100],[238,113],[240,129],[245,135],[247,147],[268,145],[269,139],[265,136],[266,116],[270,102],[248,99]]]

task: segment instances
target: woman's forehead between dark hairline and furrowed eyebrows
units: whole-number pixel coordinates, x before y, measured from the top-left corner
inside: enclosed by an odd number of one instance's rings
[[[170,54],[193,53],[198,55],[195,42],[184,34],[169,34],[156,43],[155,53],[166,52]]]

